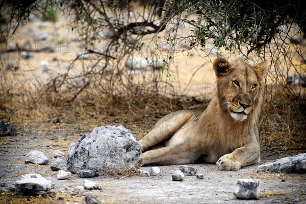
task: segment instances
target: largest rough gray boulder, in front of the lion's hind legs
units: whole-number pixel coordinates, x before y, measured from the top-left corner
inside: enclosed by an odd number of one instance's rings
[[[96,175],[137,169],[142,162],[141,145],[130,130],[119,126],[96,127],[71,143],[67,154],[68,171],[92,170]]]

